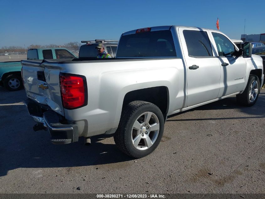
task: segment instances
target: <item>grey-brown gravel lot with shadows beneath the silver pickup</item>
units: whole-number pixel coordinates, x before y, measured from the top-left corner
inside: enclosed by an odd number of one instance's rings
[[[265,193],[264,89],[253,107],[229,97],[169,118],[140,159],[106,135],[52,145],[25,98],[0,87],[0,193]]]

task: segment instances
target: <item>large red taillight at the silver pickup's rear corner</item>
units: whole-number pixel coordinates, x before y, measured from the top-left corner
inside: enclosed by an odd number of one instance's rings
[[[73,109],[86,105],[85,77],[81,75],[60,75],[60,89],[64,108]]]

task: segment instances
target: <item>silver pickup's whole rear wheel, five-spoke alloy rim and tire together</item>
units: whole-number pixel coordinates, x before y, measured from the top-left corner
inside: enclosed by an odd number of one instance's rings
[[[122,152],[141,158],[156,149],[163,131],[164,118],[161,110],[150,102],[134,101],[122,112],[114,141]]]

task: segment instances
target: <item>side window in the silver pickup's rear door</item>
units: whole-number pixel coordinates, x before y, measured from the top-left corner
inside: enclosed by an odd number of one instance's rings
[[[183,30],[188,48],[188,55],[193,57],[212,57],[212,47],[207,32],[199,30]]]

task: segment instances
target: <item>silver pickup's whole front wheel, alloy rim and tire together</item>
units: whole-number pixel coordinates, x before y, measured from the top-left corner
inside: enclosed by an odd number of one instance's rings
[[[253,106],[260,92],[260,83],[256,75],[249,75],[248,82],[244,92],[236,95],[236,100],[244,106]]]

